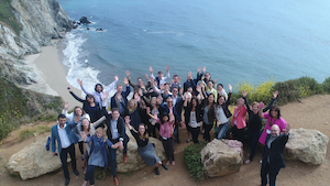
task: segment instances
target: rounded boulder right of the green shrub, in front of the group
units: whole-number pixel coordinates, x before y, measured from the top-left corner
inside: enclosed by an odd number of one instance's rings
[[[201,150],[200,154],[210,177],[237,173],[243,164],[240,151],[229,147],[228,140],[215,139]]]

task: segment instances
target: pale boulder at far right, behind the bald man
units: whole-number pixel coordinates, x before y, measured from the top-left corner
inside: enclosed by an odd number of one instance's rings
[[[317,130],[292,129],[283,155],[286,160],[319,165],[326,160],[328,142],[329,138]]]

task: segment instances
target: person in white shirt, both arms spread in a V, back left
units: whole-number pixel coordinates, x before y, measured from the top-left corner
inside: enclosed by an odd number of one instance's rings
[[[97,85],[95,85],[95,91],[92,91],[92,92],[87,91],[87,90],[85,89],[81,79],[77,79],[77,81],[78,81],[78,84],[80,85],[81,90],[82,90],[86,95],[92,95],[94,98],[95,98],[95,102],[98,102],[100,109],[102,109],[102,102],[103,102],[102,98],[103,98],[103,94],[105,94],[105,92],[108,92],[108,94],[109,94],[109,92],[114,88],[114,86],[116,86],[116,84],[117,84],[117,81],[118,81],[118,76],[114,76],[114,80],[107,87],[106,90],[103,90],[103,86],[102,86],[101,84],[97,84]],[[106,107],[107,107],[107,106],[106,106]]]

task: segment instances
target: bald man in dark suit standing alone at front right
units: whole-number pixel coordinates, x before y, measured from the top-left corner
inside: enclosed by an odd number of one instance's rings
[[[279,127],[273,124],[271,134],[267,134],[262,155],[261,182],[262,186],[267,185],[267,175],[270,186],[275,186],[276,176],[280,168],[286,167],[283,157],[283,150],[289,138],[290,124],[287,123],[284,134],[279,133]]]

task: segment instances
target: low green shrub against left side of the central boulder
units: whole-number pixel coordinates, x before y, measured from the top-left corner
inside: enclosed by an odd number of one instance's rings
[[[199,182],[206,177],[206,169],[201,163],[200,151],[207,145],[206,141],[200,141],[197,144],[190,144],[185,149],[184,161],[190,176]]]

